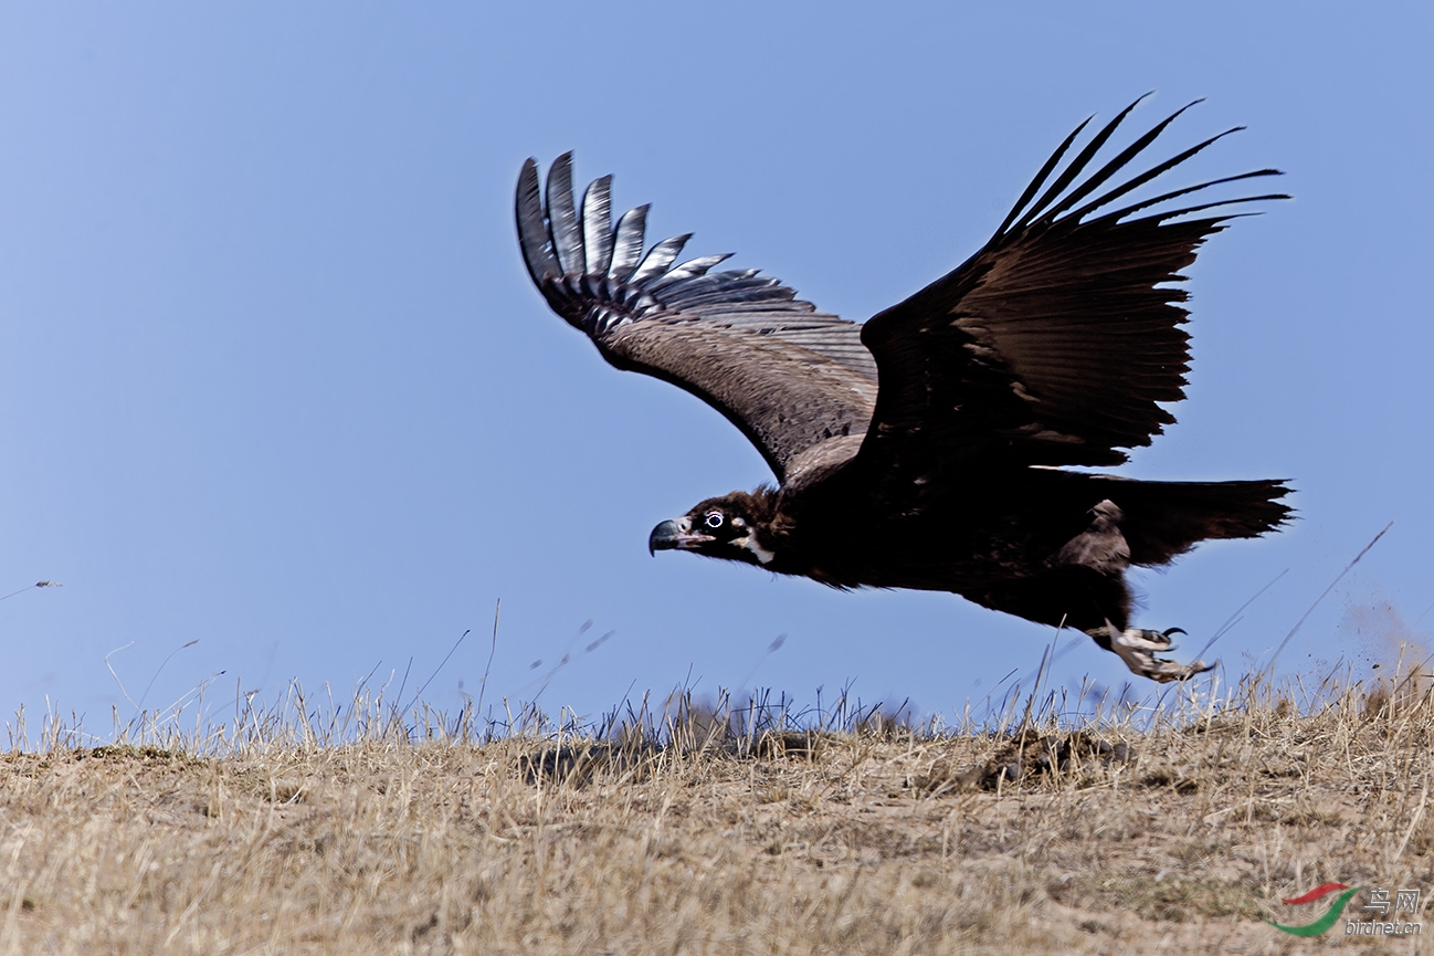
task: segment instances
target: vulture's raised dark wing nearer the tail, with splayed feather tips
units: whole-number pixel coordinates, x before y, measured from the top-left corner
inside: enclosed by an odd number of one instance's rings
[[[1087,175],[1134,105],[1057,174],[1090,121],[1077,126],[981,251],[863,326],[882,386],[859,461],[885,482],[921,484],[962,465],[1117,465],[1121,448],[1149,445],[1174,422],[1160,403],[1184,398],[1190,352],[1177,304],[1186,291],[1173,283],[1238,215],[1193,214],[1288,197],[1172,202],[1279,174],[1259,169],[1117,205],[1235,132],[1108,185],[1182,109]]]

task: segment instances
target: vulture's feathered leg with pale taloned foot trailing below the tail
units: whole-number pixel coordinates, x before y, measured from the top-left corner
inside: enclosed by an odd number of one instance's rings
[[[1120,533],[1124,514],[1110,500],[1101,501],[1088,514],[1090,525],[1065,543],[1055,561],[1058,566],[1090,568],[1103,578],[1103,586],[1091,587],[1090,596],[1100,606],[1104,620],[1097,617],[1071,623],[1090,634],[1097,645],[1119,655],[1131,673],[1141,678],[1167,683],[1193,678],[1213,667],[1215,665],[1203,660],[1182,665],[1156,657],[1157,653],[1174,650],[1170,636],[1183,634],[1179,627],[1163,632],[1127,627],[1130,586],[1126,584],[1126,568],[1130,567],[1130,545]]]

